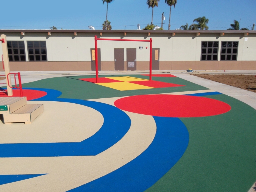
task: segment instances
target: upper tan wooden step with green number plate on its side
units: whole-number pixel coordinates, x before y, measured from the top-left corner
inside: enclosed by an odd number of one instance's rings
[[[27,104],[27,97],[0,97],[0,114],[10,114]]]

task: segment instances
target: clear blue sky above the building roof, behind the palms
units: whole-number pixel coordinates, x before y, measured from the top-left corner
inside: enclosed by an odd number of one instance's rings
[[[88,29],[89,25],[102,29],[107,8],[102,0],[9,0],[4,6],[0,29],[49,29],[53,25],[58,29]],[[163,12],[164,29],[168,29],[170,7],[165,0],[154,8],[153,23],[161,25]],[[146,0],[115,0],[109,4],[108,20],[112,29],[137,29],[138,23],[145,27],[151,22],[151,14]],[[209,19],[209,30],[226,30],[234,19],[241,19],[241,28],[251,29],[250,25],[256,23],[256,0],[177,0],[176,8],[172,7],[171,29],[190,25],[202,16]]]

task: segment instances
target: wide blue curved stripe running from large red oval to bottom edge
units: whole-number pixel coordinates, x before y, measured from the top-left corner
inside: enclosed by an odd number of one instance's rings
[[[123,167],[70,190],[145,191],[167,173],[184,154],[189,141],[186,126],[178,118],[154,117],[157,131],[151,145]]]

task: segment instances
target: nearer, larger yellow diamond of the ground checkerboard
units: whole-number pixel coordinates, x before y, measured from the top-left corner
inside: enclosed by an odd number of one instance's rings
[[[153,87],[148,87],[148,86],[138,85],[138,84],[128,83],[128,82],[98,83],[97,85],[102,85],[102,86],[116,89],[119,91],[128,91],[128,90],[136,90],[136,89],[154,89]]]

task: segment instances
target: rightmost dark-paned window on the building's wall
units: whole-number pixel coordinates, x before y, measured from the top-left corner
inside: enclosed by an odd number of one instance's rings
[[[222,41],[220,60],[237,60],[238,41]]]

